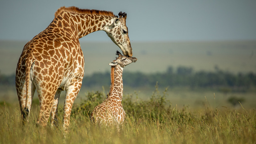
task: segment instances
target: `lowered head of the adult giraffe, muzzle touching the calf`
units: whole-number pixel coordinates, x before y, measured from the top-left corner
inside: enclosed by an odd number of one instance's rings
[[[126,13],[119,12],[118,15],[119,18],[113,18],[113,23],[108,27],[106,33],[119,46],[124,55],[132,57],[132,46],[128,36],[128,28],[126,27]]]

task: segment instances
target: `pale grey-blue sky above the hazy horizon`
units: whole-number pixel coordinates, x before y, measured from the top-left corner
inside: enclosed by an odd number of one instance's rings
[[[255,0],[1,0],[0,40],[29,41],[61,6],[127,13],[131,42],[255,40]],[[103,31],[80,41],[109,41]]]

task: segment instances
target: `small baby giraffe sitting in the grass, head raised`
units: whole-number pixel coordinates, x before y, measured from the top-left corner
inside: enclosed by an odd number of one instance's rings
[[[111,66],[111,85],[107,99],[100,105],[96,106],[91,114],[91,121],[99,124],[122,124],[124,122],[125,112],[122,106],[123,97],[123,68],[132,62],[136,62],[137,58],[123,56],[116,51],[118,57],[109,65]]]

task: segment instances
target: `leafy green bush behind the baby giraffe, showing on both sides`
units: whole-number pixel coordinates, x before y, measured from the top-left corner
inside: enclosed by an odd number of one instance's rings
[[[186,112],[186,107],[181,111],[177,108],[171,109],[171,102],[166,100],[165,88],[160,94],[158,91],[158,83],[156,89],[149,100],[140,100],[138,97],[133,99],[133,94],[123,96],[122,105],[126,113],[126,117],[135,119],[135,121],[153,121],[153,123],[166,123],[167,121],[183,122],[189,121],[191,114]],[[83,115],[90,117],[92,110],[99,105],[106,97],[103,92],[88,92],[86,98],[81,103],[73,107],[72,116]]]

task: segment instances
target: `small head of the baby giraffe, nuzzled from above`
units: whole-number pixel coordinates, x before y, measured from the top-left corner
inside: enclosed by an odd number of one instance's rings
[[[138,60],[135,57],[123,56],[118,51],[116,51],[116,55],[118,55],[118,57],[116,58],[116,60],[113,60],[112,62],[109,63],[110,66],[120,65],[121,67],[124,68],[125,66],[129,65],[130,63],[136,62]]]

